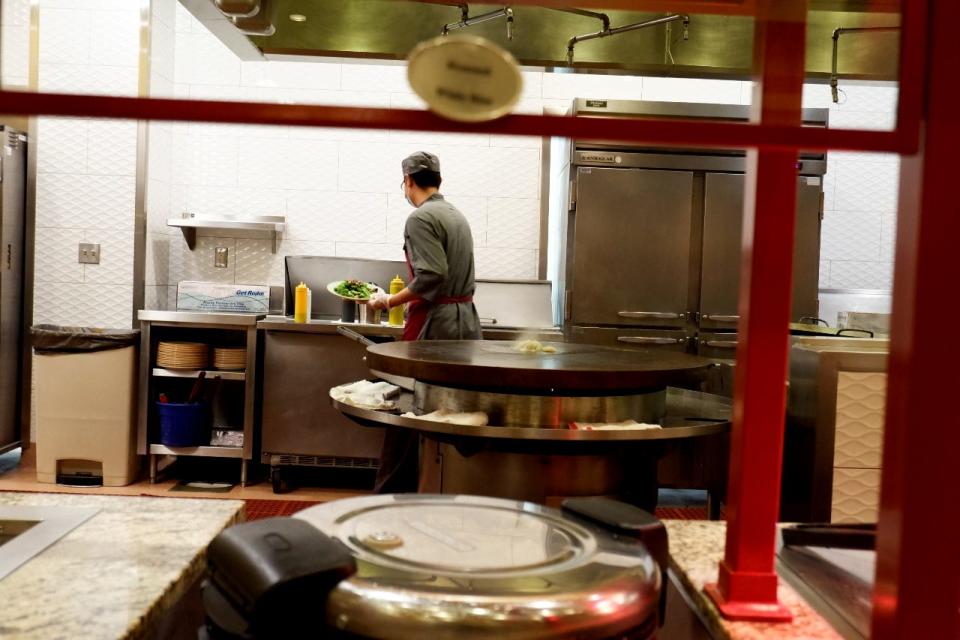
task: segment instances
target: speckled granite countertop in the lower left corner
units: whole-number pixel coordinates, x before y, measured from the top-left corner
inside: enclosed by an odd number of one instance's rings
[[[204,569],[243,502],[0,492],[0,506],[88,507],[92,518],[0,580],[0,637],[138,638]]]

